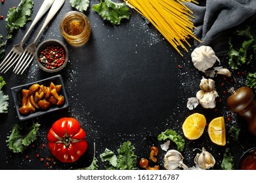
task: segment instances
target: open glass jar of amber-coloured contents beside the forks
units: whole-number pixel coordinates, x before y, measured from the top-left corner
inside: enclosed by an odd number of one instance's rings
[[[71,11],[60,20],[60,32],[72,46],[83,46],[91,35],[91,25],[85,14]]]

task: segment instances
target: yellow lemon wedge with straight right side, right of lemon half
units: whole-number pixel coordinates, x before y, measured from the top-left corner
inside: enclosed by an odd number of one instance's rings
[[[226,145],[226,129],[222,116],[211,120],[207,132],[213,143],[220,146]]]

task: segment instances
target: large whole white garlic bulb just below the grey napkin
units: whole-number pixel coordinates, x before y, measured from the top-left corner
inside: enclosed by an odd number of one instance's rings
[[[194,49],[191,54],[191,58],[196,69],[203,73],[205,70],[213,67],[216,60],[220,62],[219,58],[215,56],[215,52],[210,46],[200,46]]]

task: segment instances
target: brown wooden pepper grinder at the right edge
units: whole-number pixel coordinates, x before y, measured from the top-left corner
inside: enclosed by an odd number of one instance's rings
[[[256,102],[253,90],[243,86],[238,90],[232,87],[228,92],[232,94],[228,97],[228,107],[242,116],[247,121],[249,132],[256,135]]]

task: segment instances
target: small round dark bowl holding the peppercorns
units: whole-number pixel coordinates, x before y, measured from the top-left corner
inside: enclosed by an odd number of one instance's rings
[[[64,54],[65,54],[65,60],[64,60],[63,65],[61,65],[60,67],[56,67],[56,69],[47,69],[47,67],[45,67],[45,65],[43,65],[45,63],[43,63],[42,61],[39,60],[42,50],[47,48],[47,46],[51,46],[51,45],[62,47],[64,50]],[[37,46],[37,49],[35,50],[35,61],[36,61],[37,65],[40,67],[40,69],[42,69],[45,72],[48,72],[48,73],[58,72],[58,71],[62,70],[68,63],[68,48],[66,47],[66,45],[63,42],[58,41],[58,39],[47,39],[47,40],[41,42]]]

